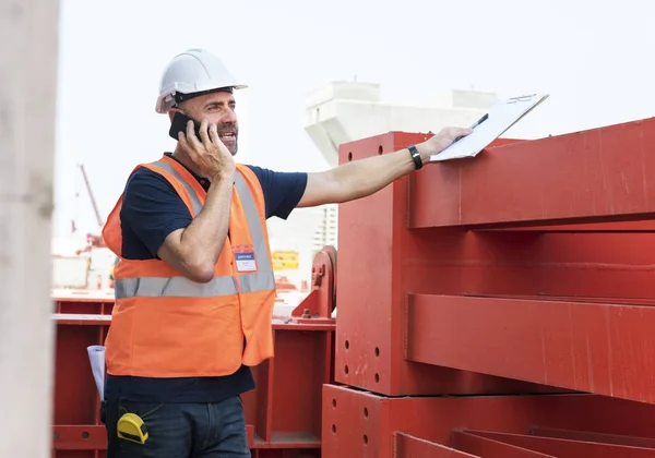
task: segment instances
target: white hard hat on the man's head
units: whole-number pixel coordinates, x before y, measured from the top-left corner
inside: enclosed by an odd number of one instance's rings
[[[216,56],[204,49],[189,49],[175,58],[164,71],[155,110],[166,113],[176,105],[176,96],[211,92],[213,89],[242,89]],[[179,101],[179,100],[178,100]]]

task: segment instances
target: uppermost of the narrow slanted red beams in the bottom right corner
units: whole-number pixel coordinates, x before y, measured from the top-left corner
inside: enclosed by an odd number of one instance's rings
[[[653,458],[655,449],[631,447],[616,444],[570,441],[552,437],[536,437],[524,434],[497,433],[489,431],[468,431],[476,436],[503,442],[517,447],[549,454],[558,458]]]

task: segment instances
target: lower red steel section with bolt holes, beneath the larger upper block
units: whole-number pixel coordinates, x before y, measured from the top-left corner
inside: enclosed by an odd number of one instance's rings
[[[322,457],[466,456],[449,448],[485,458],[651,457],[655,448],[636,436],[655,438],[654,422],[655,406],[596,395],[384,397],[325,385]],[[586,437],[538,434],[544,430]],[[606,434],[632,444],[608,445]]]

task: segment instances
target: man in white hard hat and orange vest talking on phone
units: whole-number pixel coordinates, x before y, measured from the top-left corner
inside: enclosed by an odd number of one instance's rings
[[[200,136],[189,121],[172,154],[139,166],[105,226],[120,257],[106,341],[109,458],[249,457],[240,395],[254,388],[250,366],[273,355],[265,220],[370,195],[471,132],[444,129],[321,173],[274,172],[235,162],[233,93],[243,87],[203,50],[175,57],[156,110],[199,121]],[[143,444],[119,438],[130,421],[144,422]]]

